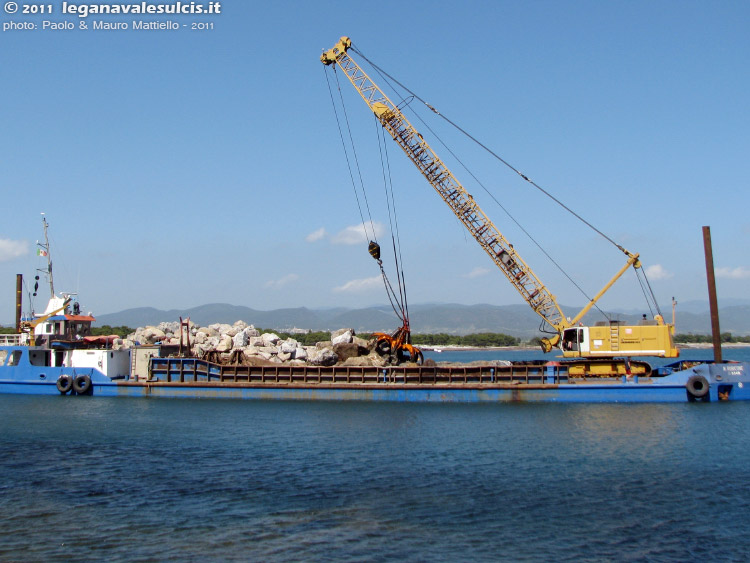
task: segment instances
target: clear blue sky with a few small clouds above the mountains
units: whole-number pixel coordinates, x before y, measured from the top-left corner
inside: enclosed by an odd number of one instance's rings
[[[704,225],[720,303],[748,296],[747,2],[224,0],[211,15],[86,18],[61,13],[58,0],[45,6],[53,13],[0,11],[0,323],[13,322],[16,274],[31,286],[46,266],[42,213],[56,291],[77,293],[94,315],[386,303],[331,102],[336,78],[319,60],[343,35],[640,253],[665,314],[672,297],[707,299]],[[136,20],[179,29],[132,29]],[[373,118],[339,78],[365,215],[395,278]],[[435,127],[502,208],[449,167],[560,303],[583,306],[625,263],[476,145]],[[522,304],[395,143],[387,151],[410,303]],[[37,310],[47,297],[40,290]],[[631,273],[601,304],[645,307]]]

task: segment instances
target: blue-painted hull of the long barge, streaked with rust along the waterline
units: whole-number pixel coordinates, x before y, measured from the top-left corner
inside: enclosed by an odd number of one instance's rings
[[[8,350],[8,349],[6,349]],[[479,376],[478,382],[457,379],[450,383],[409,383],[383,371],[369,382],[299,382],[293,377],[275,383],[257,381],[215,381],[213,366],[194,359],[168,360],[163,375],[151,381],[112,379],[96,368],[71,368],[24,365],[28,354],[17,348],[14,365],[0,365],[0,393],[31,395],[86,395],[94,397],[160,397],[160,398],[224,398],[254,400],[304,401],[397,401],[439,403],[502,403],[502,402],[579,402],[579,403],[651,403],[687,401],[747,401],[750,400],[750,363],[704,363],[667,370],[668,375],[638,380],[568,380],[553,368],[540,368],[537,379],[500,381],[494,369],[492,379]],[[8,356],[9,357],[9,356]],[[682,368],[682,365],[678,367]],[[193,371],[188,373],[188,368]],[[205,368],[199,377],[198,368]],[[557,369],[557,368],[555,368]],[[172,370],[172,371],[169,371]],[[427,371],[427,370],[426,370]],[[154,373],[156,373],[155,370]],[[188,376],[186,376],[188,373]],[[379,373],[376,371],[376,373]],[[405,374],[407,372],[400,372]],[[408,372],[412,373],[412,372]],[[174,377],[179,374],[179,379]],[[90,385],[77,393],[76,388],[61,392],[60,378],[88,379]],[[278,379],[278,373],[276,374]],[[417,377],[422,377],[418,375]],[[192,379],[191,379],[192,378]],[[389,379],[390,378],[390,379]],[[187,379],[187,380],[186,380]],[[420,380],[421,381],[421,380]]]

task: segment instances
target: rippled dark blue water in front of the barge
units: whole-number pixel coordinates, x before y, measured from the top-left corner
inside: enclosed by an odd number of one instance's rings
[[[750,404],[0,395],[1,561],[747,561]]]

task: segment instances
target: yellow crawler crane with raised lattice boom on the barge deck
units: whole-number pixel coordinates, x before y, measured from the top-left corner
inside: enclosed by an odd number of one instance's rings
[[[627,256],[625,265],[572,319],[563,314],[555,296],[537,278],[497,227],[479,208],[448,167],[432,151],[422,135],[409,123],[398,107],[378,88],[349,56],[351,40],[342,37],[320,57],[324,65],[337,65],[362,96],[383,128],[403,149],[430,185],[463,223],[490,259],[508,278],[531,308],[553,329],[551,338],[542,339],[542,349],[557,348],[566,358],[579,358],[570,366],[571,375],[612,376],[648,374],[646,362],[629,362],[615,357],[659,356],[675,358],[674,325],[657,314],[638,325],[616,321],[597,326],[581,326],[580,321],[610,287],[632,266],[641,267],[638,254],[618,245]]]

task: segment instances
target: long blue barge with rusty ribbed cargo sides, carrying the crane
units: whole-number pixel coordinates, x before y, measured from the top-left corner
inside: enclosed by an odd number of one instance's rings
[[[5,342],[5,344],[10,344]],[[406,402],[750,400],[750,363],[681,361],[649,376],[571,376],[561,362],[466,366],[222,365],[153,349],[0,346],[0,393]]]

